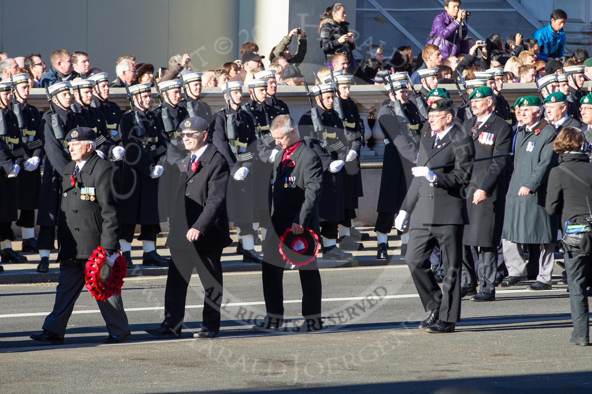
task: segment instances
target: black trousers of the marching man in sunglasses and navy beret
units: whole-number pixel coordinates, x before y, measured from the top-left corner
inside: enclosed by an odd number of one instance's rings
[[[170,248],[172,261],[166,276],[165,320],[162,327],[181,333],[185,318],[187,288],[195,267],[205,293],[201,328],[214,333],[220,331],[220,305],[223,294],[221,256],[222,249]]]

